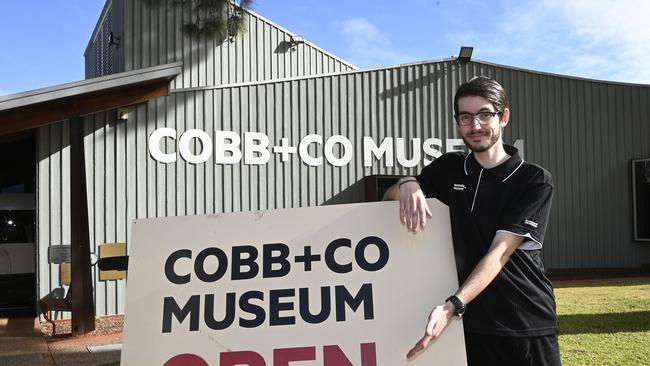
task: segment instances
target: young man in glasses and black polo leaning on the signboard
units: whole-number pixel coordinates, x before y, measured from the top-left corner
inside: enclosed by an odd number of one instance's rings
[[[553,195],[550,174],[504,145],[510,110],[503,87],[486,77],[454,97],[458,129],[470,153],[444,154],[386,193],[399,199],[413,233],[430,216],[425,197],[449,206],[461,284],[435,306],[412,357],[462,316],[469,365],[560,365],[555,297],[540,249]]]

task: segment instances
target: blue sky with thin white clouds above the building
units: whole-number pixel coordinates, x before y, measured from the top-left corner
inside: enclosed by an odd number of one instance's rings
[[[104,0],[0,0],[0,95],[84,77]],[[253,11],[358,67],[445,58],[650,84],[647,0],[256,0]]]

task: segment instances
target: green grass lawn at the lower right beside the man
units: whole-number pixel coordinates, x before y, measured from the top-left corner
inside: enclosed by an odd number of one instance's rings
[[[650,365],[650,277],[553,285],[564,366]]]

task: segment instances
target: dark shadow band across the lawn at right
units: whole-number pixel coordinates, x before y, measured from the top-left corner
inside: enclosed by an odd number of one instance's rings
[[[560,334],[600,334],[650,331],[650,311],[558,315]]]

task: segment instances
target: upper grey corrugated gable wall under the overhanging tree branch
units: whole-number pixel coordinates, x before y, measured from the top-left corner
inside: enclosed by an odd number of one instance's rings
[[[182,61],[173,88],[281,79],[355,69],[309,42],[289,46],[291,34],[247,12],[247,30],[231,40],[186,36],[184,8],[151,9],[140,0],[126,2],[126,70]]]

